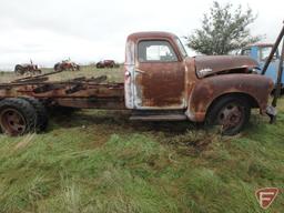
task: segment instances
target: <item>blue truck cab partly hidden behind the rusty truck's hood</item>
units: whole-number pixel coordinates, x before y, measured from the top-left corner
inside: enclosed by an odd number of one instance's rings
[[[273,43],[256,43],[256,44],[252,44],[244,48],[241,51],[241,54],[251,57],[254,60],[256,60],[260,64],[260,69],[257,70],[257,72],[261,73],[261,70],[263,69],[272,51],[272,48],[273,48]],[[277,81],[278,64],[280,64],[280,53],[277,50],[265,73],[265,75],[270,77],[273,80],[274,84],[276,84],[276,81]],[[283,84],[284,84],[284,75],[282,77],[282,87]]]

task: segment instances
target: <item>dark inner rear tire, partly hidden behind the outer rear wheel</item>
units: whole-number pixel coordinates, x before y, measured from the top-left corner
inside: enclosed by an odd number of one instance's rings
[[[37,132],[45,131],[49,123],[48,112],[42,102],[32,97],[21,97],[21,99],[28,101],[37,112],[36,130]]]

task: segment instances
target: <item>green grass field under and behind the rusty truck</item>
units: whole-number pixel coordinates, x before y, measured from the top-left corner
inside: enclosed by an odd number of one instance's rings
[[[102,73],[123,78],[121,69],[74,74]],[[45,133],[0,136],[0,212],[282,213],[284,194],[266,211],[254,195],[284,189],[284,100],[278,110],[276,124],[254,112],[234,138],[189,122],[130,122],[124,111],[53,113]]]

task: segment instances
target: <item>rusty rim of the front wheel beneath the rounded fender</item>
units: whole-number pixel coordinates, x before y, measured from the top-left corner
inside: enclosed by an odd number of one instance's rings
[[[239,126],[244,120],[244,109],[235,103],[225,105],[217,114],[217,122],[224,130]]]

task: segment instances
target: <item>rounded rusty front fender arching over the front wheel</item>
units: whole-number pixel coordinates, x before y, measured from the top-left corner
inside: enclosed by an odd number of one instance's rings
[[[220,74],[196,82],[189,97],[186,115],[191,121],[203,122],[211,104],[222,95],[243,94],[256,103],[264,113],[273,81],[257,74]]]

